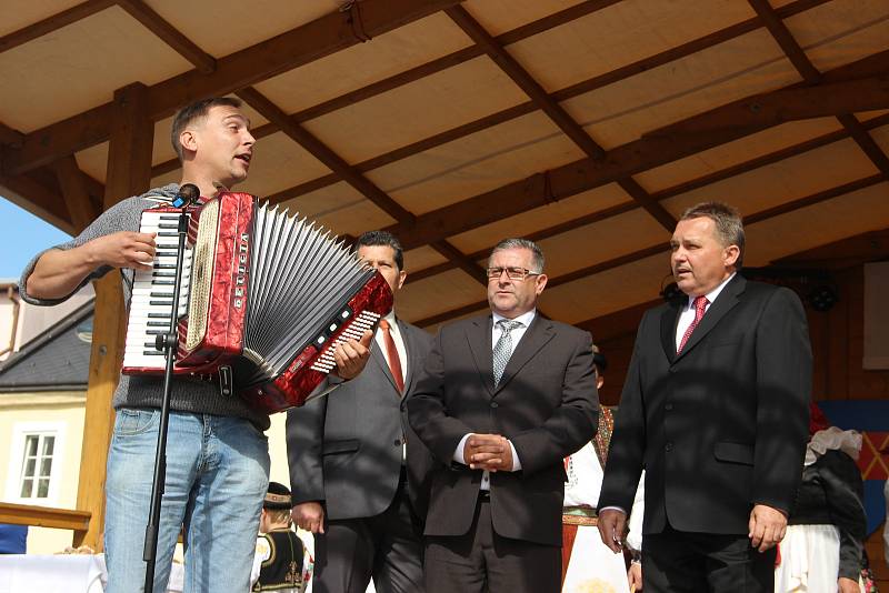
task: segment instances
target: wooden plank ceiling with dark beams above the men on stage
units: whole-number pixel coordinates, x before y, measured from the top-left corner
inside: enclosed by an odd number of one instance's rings
[[[6,6],[10,4],[10,6]],[[247,104],[242,188],[407,251],[402,316],[482,311],[485,258],[541,243],[541,310],[656,299],[681,211],[738,207],[745,263],[889,229],[885,0],[7,0],[0,194],[64,230],[101,208],[116,89]]]

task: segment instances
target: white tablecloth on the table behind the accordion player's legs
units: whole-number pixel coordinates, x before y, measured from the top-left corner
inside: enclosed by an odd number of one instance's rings
[[[181,593],[183,569],[173,564],[168,593]],[[0,593],[102,593],[103,554],[0,554]]]

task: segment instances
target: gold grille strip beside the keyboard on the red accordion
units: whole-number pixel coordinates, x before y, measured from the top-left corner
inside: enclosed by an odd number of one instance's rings
[[[198,346],[207,333],[210,310],[210,288],[213,281],[213,253],[216,252],[219,224],[219,201],[211,200],[201,211],[198,220],[198,237],[191,262],[191,291],[188,303],[188,334],[186,349]]]

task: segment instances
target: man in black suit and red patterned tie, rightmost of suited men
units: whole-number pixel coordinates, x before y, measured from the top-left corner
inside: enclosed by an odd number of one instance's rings
[[[646,592],[772,591],[808,434],[806,314],[790,290],[737,273],[745,237],[733,208],[687,210],[670,244],[683,294],[639,325],[599,531],[620,550],[645,468]]]

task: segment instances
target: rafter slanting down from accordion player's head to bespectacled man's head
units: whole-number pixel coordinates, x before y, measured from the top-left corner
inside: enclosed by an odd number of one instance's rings
[[[238,91],[238,97],[243,99],[250,107],[256,109],[263,118],[277,125],[283,133],[290,137],[299,145],[306,149],[312,157],[318,159],[333,173],[346,181],[370,200],[377,208],[396,219],[400,224],[412,224],[416,217],[393,200],[388,193],[377,187],[376,183],[362,175],[342,157],[332,151],[323,142],[309,133],[302,125],[294,122],[278,105],[272,103],[267,97],[248,87]],[[487,284],[488,280],[485,271],[473,261],[463,255],[460,250],[444,240],[436,241],[431,244],[436,251],[448,258],[456,267],[463,269],[479,282]]]

